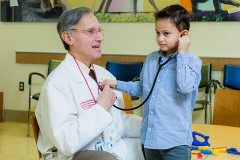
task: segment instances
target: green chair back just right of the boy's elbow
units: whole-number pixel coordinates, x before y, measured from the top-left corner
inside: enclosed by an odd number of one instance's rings
[[[212,64],[211,63],[203,63],[201,68],[201,81],[199,84],[199,88],[206,87],[209,80],[211,79],[212,73]]]

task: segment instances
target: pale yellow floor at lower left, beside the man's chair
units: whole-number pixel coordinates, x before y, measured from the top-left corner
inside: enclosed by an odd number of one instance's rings
[[[0,160],[39,160],[33,133],[27,137],[27,123],[0,123]]]

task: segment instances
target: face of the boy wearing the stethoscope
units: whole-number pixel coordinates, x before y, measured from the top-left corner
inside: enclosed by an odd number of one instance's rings
[[[181,32],[168,19],[160,19],[155,22],[156,41],[165,56],[178,51]]]

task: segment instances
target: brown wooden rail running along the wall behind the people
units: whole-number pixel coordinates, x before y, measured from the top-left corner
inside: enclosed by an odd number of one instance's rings
[[[63,60],[66,53],[41,53],[41,52],[16,52],[16,63],[22,64],[48,64],[50,59]],[[103,54],[94,63],[105,66],[108,60],[120,62],[144,62],[146,55],[114,55]],[[211,63],[213,71],[223,71],[224,64],[240,65],[240,58],[217,58],[217,57],[200,57],[203,63]]]

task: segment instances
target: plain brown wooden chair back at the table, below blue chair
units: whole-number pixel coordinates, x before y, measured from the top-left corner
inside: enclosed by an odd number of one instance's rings
[[[240,127],[240,90],[216,89],[213,124]]]

